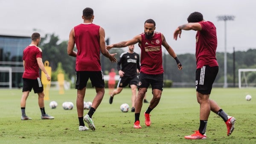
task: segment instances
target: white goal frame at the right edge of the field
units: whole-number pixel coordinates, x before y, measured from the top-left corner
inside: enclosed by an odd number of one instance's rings
[[[239,88],[256,88],[256,69],[238,69]]]

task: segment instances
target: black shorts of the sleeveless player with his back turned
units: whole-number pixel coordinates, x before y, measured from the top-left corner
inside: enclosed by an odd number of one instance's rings
[[[102,71],[76,71],[76,89],[83,89],[86,87],[89,78],[93,87],[105,87]]]

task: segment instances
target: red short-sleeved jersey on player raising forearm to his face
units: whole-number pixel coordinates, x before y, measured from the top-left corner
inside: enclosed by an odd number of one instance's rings
[[[202,68],[204,65],[218,66],[216,59],[216,27],[209,21],[201,21],[199,23],[202,29],[196,34],[195,57],[197,69]]]

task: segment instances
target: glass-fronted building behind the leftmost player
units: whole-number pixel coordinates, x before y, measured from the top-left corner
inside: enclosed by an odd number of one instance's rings
[[[30,43],[30,36],[0,35],[0,87],[22,86],[23,49]]]

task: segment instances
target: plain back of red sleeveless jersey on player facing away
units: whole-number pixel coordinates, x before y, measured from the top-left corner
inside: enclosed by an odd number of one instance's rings
[[[101,71],[99,28],[93,23],[81,23],[74,27],[76,71]]]

